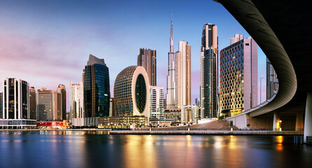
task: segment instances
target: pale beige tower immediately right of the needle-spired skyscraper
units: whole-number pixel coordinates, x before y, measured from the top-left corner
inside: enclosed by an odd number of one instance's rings
[[[179,41],[179,51],[175,52],[175,97],[177,108],[191,104],[191,45]]]

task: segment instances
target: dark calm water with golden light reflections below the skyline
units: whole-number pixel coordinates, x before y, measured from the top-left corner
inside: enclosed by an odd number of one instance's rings
[[[311,167],[293,137],[0,132],[0,167]]]

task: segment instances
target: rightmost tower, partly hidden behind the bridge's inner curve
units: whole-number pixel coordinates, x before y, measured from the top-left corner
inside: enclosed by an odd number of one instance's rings
[[[266,58],[266,99],[271,99],[278,90],[278,76],[271,62]]]

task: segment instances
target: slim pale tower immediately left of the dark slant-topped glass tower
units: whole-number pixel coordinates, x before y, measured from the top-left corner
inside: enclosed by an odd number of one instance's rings
[[[69,120],[72,120],[73,118],[84,118],[85,115],[83,111],[83,82],[69,82],[69,95]]]

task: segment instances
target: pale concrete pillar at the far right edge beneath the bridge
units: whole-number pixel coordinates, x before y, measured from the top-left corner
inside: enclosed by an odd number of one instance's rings
[[[312,92],[306,97],[306,117],[304,118],[304,143],[306,137],[312,136]]]

